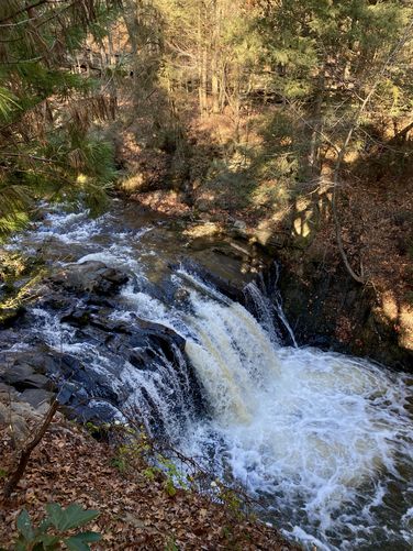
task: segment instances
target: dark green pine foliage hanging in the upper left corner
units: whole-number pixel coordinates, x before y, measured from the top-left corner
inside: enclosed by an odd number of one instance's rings
[[[100,43],[116,0],[3,0],[0,4],[0,232],[33,199],[87,198],[113,180],[113,152],[93,130],[113,115],[104,75],[79,73],[87,38]]]

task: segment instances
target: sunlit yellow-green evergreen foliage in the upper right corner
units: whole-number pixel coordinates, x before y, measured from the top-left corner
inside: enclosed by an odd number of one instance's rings
[[[371,143],[369,124],[377,125],[389,114],[409,115],[412,102],[405,77],[412,36],[404,36],[412,18],[409,4],[286,0],[259,5],[256,24],[272,90],[283,103],[281,117],[302,126],[291,151],[300,141],[306,146],[306,155],[298,147],[306,178],[320,176],[328,155],[342,146],[373,86],[376,93],[356,132],[356,150]]]

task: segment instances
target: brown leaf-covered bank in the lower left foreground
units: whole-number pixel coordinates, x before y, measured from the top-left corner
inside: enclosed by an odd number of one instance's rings
[[[31,421],[33,423],[33,421]],[[0,493],[15,464],[8,427],[0,428]],[[272,528],[196,492],[166,492],[163,476],[148,476],[137,462],[123,473],[116,450],[98,442],[59,414],[38,448],[16,492],[0,498],[0,543],[13,549],[22,508],[37,524],[46,503],[77,503],[100,511],[87,529],[101,533],[93,549],[116,550],[274,550],[298,549]],[[172,495],[171,495],[172,494]]]

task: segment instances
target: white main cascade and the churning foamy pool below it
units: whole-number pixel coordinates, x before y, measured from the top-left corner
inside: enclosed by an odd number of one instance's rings
[[[192,432],[187,453],[202,455],[213,432],[249,491],[272,495],[288,511],[302,509],[298,518],[313,532],[311,541],[321,538],[328,547],[327,533],[341,529],[368,537],[372,509],[387,488],[371,492],[364,509],[357,505],[360,488],[382,473],[398,476],[398,456],[413,465],[403,377],[341,354],[279,349],[239,305],[194,295],[192,302],[198,338],[188,340],[186,351],[213,420]],[[354,506],[357,514],[339,517]]]

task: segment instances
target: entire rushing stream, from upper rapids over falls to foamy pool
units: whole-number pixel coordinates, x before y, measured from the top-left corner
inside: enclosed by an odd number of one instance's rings
[[[52,210],[9,249],[42,247],[53,266],[100,261],[124,269],[129,283],[108,317],[172,329],[185,350],[153,350],[156,368],[137,370],[38,306],[31,311],[36,339],[124,392],[125,407],[138,408],[150,431],[161,426],[183,453],[215,465],[217,476],[231,472],[264,499],[265,520],[309,549],[412,549],[408,375],[298,348],[277,289],[270,299],[259,282],[247,284],[246,309],[196,271],[170,268],[177,258],[170,235],[163,221],[131,221],[121,210],[97,220]]]

